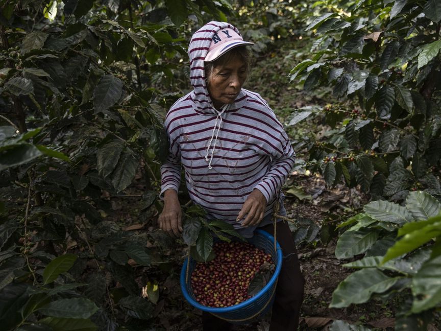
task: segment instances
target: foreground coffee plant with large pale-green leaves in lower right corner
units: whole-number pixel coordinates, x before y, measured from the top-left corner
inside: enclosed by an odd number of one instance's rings
[[[410,192],[404,206],[372,201],[339,226],[345,232],[335,256],[355,257],[344,266],[358,271],[340,283],[330,307],[400,297],[395,329],[427,330],[441,308],[441,203],[426,192]]]

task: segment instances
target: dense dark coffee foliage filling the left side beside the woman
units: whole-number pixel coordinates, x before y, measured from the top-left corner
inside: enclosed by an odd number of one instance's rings
[[[2,329],[149,327],[154,272],[167,262],[152,247],[170,239],[108,216],[115,199],[132,199],[142,225],[157,212],[162,118],[188,88],[187,40],[231,6],[1,0],[0,8]],[[135,179],[142,190],[133,195]]]

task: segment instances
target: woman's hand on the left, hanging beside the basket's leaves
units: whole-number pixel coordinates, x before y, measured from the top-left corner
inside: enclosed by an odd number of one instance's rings
[[[158,224],[171,237],[179,237],[182,232],[182,210],[175,190],[164,192],[164,208],[159,215]]]

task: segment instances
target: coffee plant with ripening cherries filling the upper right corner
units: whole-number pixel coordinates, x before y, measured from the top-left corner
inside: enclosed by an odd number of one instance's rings
[[[359,185],[373,198],[439,196],[441,3],[318,1],[306,20],[312,46],[291,70],[305,92],[332,87],[336,102],[299,109],[331,127],[311,144],[309,166],[328,184]]]

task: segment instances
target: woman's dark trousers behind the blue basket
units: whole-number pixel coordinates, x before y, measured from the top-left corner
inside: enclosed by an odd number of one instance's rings
[[[261,229],[274,235],[273,224],[265,225]],[[285,221],[277,222],[276,236],[282,247],[283,263],[277,282],[269,331],[296,331],[299,326],[305,280],[300,271],[296,244]],[[205,312],[202,314],[202,325],[204,331],[225,331],[232,327],[230,323]]]

